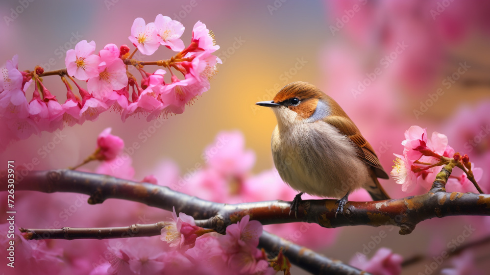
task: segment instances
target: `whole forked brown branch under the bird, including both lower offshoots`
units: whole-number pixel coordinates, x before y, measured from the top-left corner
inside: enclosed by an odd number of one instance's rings
[[[249,217],[262,224],[306,221],[317,222],[324,227],[399,225],[401,233],[410,233],[413,226],[424,219],[450,215],[490,215],[489,195],[444,192],[443,186],[452,166],[452,164],[448,165],[439,173],[433,188],[427,194],[398,200],[348,202],[346,205],[347,215],[338,219],[335,218],[335,200],[304,200],[300,204],[300,211],[298,211],[298,214],[302,214],[296,218],[289,214],[291,202],[286,201],[229,205],[201,200],[163,186],[131,182],[97,174],[72,170],[33,171],[24,178],[23,184],[18,186],[19,190],[35,190],[47,193],[84,193],[91,196],[88,200],[90,204],[102,203],[109,198],[119,198],[139,201],[167,210],[170,210],[172,205],[176,205],[178,209],[192,213],[193,217],[181,212],[177,218],[175,208],[173,208],[173,226],[170,226],[172,223],[169,225],[168,222],[160,222],[152,225],[131,225],[116,228],[21,228],[21,231],[26,239],[106,239],[160,235],[162,240],[173,243],[175,246],[192,249],[196,239],[199,236],[203,237],[202,235],[205,233],[209,233],[210,229],[226,233],[226,236],[240,236],[241,234],[232,232],[238,230],[236,227],[240,228],[240,223],[248,222]],[[434,205],[437,206],[434,207]],[[195,218],[200,220],[194,220]],[[255,235],[257,236],[257,234]],[[278,262],[286,261],[280,259],[282,252],[294,264],[316,274],[317,271],[326,274],[360,274],[359,271],[356,272],[351,267],[338,261],[332,262],[330,259],[310,250],[299,248],[284,240],[277,242],[277,237],[266,232],[262,233],[259,240],[259,247],[268,252],[275,252],[278,259],[260,256],[255,259],[257,264],[261,261],[262,263],[267,261],[271,265],[278,265]],[[251,249],[252,246],[248,248]],[[305,253],[307,251],[309,252]],[[331,263],[326,264],[328,262]]]

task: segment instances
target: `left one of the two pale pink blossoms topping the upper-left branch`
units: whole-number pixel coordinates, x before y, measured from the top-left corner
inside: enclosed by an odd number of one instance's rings
[[[151,55],[160,46],[157,35],[155,23],[145,24],[145,20],[138,17],[131,26],[131,35],[128,38],[141,53]]]

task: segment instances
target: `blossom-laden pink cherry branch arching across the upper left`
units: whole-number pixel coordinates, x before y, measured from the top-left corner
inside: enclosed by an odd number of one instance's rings
[[[206,25],[200,21],[194,25],[187,48],[180,39],[183,32],[184,26],[168,16],[159,14],[148,24],[137,18],[128,37],[134,50],[126,45],[107,44],[94,53],[96,43],[82,40],[66,52],[66,68],[49,72],[40,66],[32,71],[20,71],[15,55],[0,68],[0,126],[4,131],[0,150],[11,141],[32,134],[95,121],[107,110],[120,113],[123,121],[133,116],[151,121],[182,113],[186,104],[192,104],[209,90],[209,80],[217,73],[217,63],[221,63],[213,55],[220,47]],[[154,55],[159,46],[177,53],[155,61],[133,58],[137,51]],[[149,66],[163,69],[148,72]],[[170,82],[164,79],[167,72],[171,75]],[[61,77],[66,100],[59,101],[44,85],[43,77],[52,75]],[[141,80],[137,75],[141,75]],[[87,88],[77,80],[85,82]],[[77,94],[72,85],[76,86]],[[34,86],[34,91],[28,100],[30,86]]]

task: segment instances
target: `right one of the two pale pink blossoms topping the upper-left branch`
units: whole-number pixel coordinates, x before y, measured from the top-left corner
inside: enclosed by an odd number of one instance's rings
[[[184,25],[182,23],[159,14],[155,18],[155,28],[158,36],[157,41],[161,45],[167,46],[167,48],[174,51],[184,50],[184,42],[180,39],[180,36],[184,33]]]

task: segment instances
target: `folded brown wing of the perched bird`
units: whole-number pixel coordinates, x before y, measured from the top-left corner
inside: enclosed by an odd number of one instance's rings
[[[323,121],[335,126],[337,129],[339,129],[341,133],[346,135],[350,140],[354,142],[355,145],[359,147],[357,155],[360,159],[362,159],[373,168],[374,173],[377,177],[390,178],[379,163],[379,159],[376,156],[376,153],[374,153],[371,145],[361,135],[359,129],[350,119],[341,116],[329,116],[324,118]]]

